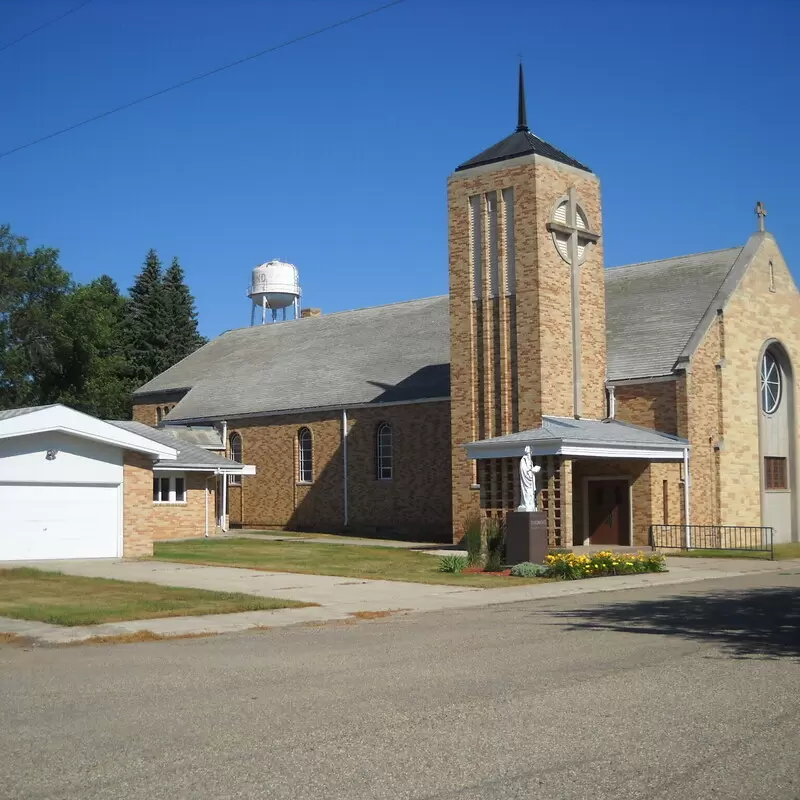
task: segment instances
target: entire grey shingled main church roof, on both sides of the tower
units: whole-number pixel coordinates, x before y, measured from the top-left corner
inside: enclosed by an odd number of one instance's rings
[[[606,270],[608,379],[673,374],[764,236]],[[228,331],[135,394],[178,390],[187,393],[167,422],[447,398],[448,298]]]

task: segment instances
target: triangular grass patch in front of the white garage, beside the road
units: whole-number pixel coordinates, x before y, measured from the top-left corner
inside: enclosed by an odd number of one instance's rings
[[[308,605],[273,597],[82,578],[27,567],[0,570],[0,616],[54,625],[230,614]]]

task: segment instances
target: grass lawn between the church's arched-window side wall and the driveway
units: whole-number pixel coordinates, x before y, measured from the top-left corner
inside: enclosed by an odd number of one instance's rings
[[[390,547],[258,539],[200,539],[156,542],[155,558],[226,567],[337,575],[414,583],[497,588],[542,583],[546,578],[511,578],[476,573],[439,572],[439,559],[424,553]]]

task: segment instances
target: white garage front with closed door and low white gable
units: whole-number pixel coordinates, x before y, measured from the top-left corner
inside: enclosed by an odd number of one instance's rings
[[[0,411],[0,561],[120,557],[126,450],[177,455],[65,406]]]

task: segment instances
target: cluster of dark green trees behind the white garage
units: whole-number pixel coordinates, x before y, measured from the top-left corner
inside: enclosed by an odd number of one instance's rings
[[[205,342],[177,258],[162,272],[150,250],[129,295],[107,275],[75,284],[57,250],[0,225],[0,409],[129,416],[133,389]]]

